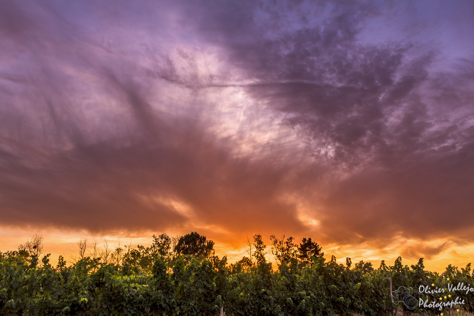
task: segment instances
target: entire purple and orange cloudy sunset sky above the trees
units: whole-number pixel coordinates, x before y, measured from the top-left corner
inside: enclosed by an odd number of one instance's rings
[[[0,251],[474,262],[473,38],[471,0],[1,1]]]

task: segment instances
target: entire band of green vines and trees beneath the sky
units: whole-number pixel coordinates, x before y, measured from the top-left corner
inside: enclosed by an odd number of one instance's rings
[[[474,284],[471,264],[443,273],[416,265],[393,266],[384,261],[352,266],[323,258],[311,238],[272,235],[267,246],[261,235],[247,238],[247,255],[227,264],[214,253],[214,243],[191,232],[184,236],[154,235],[149,247],[130,245],[98,249],[87,240],[78,242],[79,257],[67,265],[43,255],[42,236],[0,253],[0,312],[3,315],[388,315],[397,307],[389,293],[405,286],[417,299],[439,301],[435,294],[418,293],[419,285],[436,284],[447,291],[447,282]],[[269,248],[275,265],[267,260]],[[41,259],[40,259],[41,258]],[[458,308],[473,311],[474,294]],[[440,315],[438,309],[412,312]],[[446,314],[445,314],[446,315]]]

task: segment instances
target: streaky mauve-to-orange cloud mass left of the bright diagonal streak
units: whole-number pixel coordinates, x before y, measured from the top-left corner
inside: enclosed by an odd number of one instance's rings
[[[122,52],[96,45],[100,39],[85,38],[49,7],[36,6],[37,15],[8,9],[20,31],[4,36],[15,53],[25,52],[27,63],[2,52],[13,67],[2,83],[3,224],[165,230],[189,226],[191,216],[230,230],[278,226],[281,218],[301,227],[294,205],[276,199],[293,163],[284,163],[285,153],[233,157],[233,144],[200,120],[208,108],[195,92],[178,90],[191,97],[177,104],[153,99],[154,89],[162,94],[173,84],[196,82],[192,67],[180,76],[181,65],[157,53],[163,64],[143,69]],[[41,15],[47,19],[31,22]],[[184,54],[183,62],[192,64]],[[172,85],[154,85],[156,78]],[[179,102],[191,106],[177,115]],[[177,211],[175,201],[191,215]],[[240,216],[229,222],[229,213]]]

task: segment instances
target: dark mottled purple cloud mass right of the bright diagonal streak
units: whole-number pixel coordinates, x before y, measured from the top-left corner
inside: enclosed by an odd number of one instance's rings
[[[472,229],[473,63],[439,73],[438,47],[410,38],[360,44],[365,20],[383,14],[375,6],[314,3],[328,13],[311,25],[313,12],[301,10],[308,3],[272,5],[253,16],[240,4],[211,9],[202,30],[256,81],[248,92],[301,131],[315,162],[347,175],[318,200],[328,240],[383,245],[396,234],[424,239]]]

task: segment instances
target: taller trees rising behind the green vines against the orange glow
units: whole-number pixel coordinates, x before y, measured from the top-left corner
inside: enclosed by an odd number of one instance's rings
[[[143,273],[149,273],[154,262],[157,259],[163,260],[168,266],[172,266],[173,262],[184,256],[185,262],[188,263],[187,256],[197,259],[211,259],[215,257],[214,242],[208,240],[206,236],[197,232],[191,232],[184,236],[169,236],[167,234],[153,235],[152,244],[149,247],[137,245],[132,248],[131,244],[121,245],[111,248],[109,242],[104,239],[102,248],[97,246],[96,241],[92,241],[91,249],[87,248],[87,238],[80,238],[77,242],[79,247],[78,256],[71,256],[72,262],[84,258],[90,258],[98,263],[115,265],[128,265],[137,267]],[[18,251],[0,252],[0,258],[18,257],[26,262],[37,262],[37,258],[44,253],[43,236],[34,235],[30,241],[24,245],[18,246]],[[294,243],[293,237],[280,238],[275,235],[270,236],[271,253],[275,263],[280,266],[283,262],[290,264],[292,259],[296,259],[300,267],[307,263],[312,264],[312,257],[323,257],[324,253],[321,247],[313,242],[311,238],[303,238],[300,244]],[[255,234],[253,237],[247,237],[246,251],[247,255],[240,261],[232,264],[231,267],[239,267],[239,269],[249,269],[265,261],[267,246],[264,244],[261,235]],[[63,256],[59,257],[60,264],[66,265]],[[39,262],[41,264],[41,262]]]

